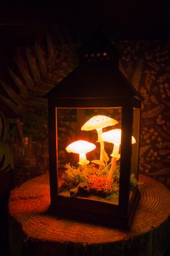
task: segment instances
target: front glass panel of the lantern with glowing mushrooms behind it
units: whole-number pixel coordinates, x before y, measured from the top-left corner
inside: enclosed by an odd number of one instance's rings
[[[118,205],[122,108],[55,108],[55,113],[58,195]]]

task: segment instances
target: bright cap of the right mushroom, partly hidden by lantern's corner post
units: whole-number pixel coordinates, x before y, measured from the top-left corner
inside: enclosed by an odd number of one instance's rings
[[[102,137],[102,140],[106,142],[111,142],[111,143],[120,145],[121,129],[111,129],[108,132],[103,132],[101,137]],[[136,142],[135,137],[132,136],[132,144],[135,144],[135,142]]]

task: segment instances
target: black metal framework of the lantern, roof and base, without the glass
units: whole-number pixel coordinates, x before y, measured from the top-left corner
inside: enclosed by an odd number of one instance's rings
[[[99,43],[99,40],[96,40],[97,43]],[[94,46],[94,43],[92,46]],[[102,41],[101,46],[95,50],[95,47],[91,47],[89,43],[87,48],[85,47],[83,50],[81,48],[80,56],[83,61],[81,61],[79,67],[71,74],[68,74],[48,93],[50,211],[64,218],[129,228],[140,200],[140,192],[136,187],[129,202],[133,108],[141,108],[141,97],[118,69],[115,49],[112,48],[110,43],[108,47],[108,41],[105,39]],[[88,56],[91,56],[91,52],[93,52],[94,56],[95,54],[96,56],[97,54],[99,55],[99,52],[106,52],[107,58],[100,61],[93,59],[88,61]],[[103,55],[102,58],[104,58]],[[115,107],[122,108],[119,204],[113,205],[109,202],[89,200],[86,197],[64,197],[60,195],[58,193],[56,109]]]

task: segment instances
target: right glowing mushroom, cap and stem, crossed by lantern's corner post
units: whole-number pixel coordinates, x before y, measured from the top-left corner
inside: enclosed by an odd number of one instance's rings
[[[120,158],[119,151],[120,151],[120,144],[121,144],[121,129],[112,129],[108,132],[103,132],[101,137],[102,137],[102,140],[114,144],[114,148],[111,154],[112,164],[111,164],[109,174],[107,176],[108,182],[112,182],[112,176],[115,171],[116,161]],[[136,142],[135,137],[132,136],[132,144],[134,144],[135,142]]]

